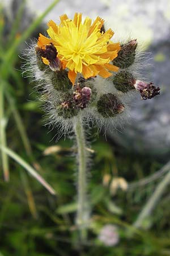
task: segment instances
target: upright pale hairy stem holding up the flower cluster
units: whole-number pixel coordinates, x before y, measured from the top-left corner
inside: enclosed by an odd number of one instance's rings
[[[76,143],[78,147],[78,208],[76,224],[80,230],[80,238],[86,240],[90,207],[87,200],[87,150],[82,118],[77,118],[74,124]]]

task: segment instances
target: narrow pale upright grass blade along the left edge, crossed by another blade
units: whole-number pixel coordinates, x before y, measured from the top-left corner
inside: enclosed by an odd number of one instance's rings
[[[1,82],[0,84],[0,141],[3,147],[6,147],[6,118],[4,113],[4,92],[3,92],[4,84]],[[10,179],[9,174],[9,166],[8,166],[8,157],[6,152],[1,152],[2,158],[2,170],[5,181]]]

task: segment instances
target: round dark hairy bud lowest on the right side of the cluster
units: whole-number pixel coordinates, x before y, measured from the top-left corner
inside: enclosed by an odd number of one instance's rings
[[[103,94],[97,101],[97,110],[103,117],[114,117],[124,112],[124,105],[117,96],[112,93]]]

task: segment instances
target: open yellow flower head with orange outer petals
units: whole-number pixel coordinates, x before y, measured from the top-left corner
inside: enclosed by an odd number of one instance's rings
[[[117,57],[120,43],[110,40],[114,34],[111,29],[103,31],[103,19],[97,17],[91,24],[92,20],[87,17],[82,23],[82,14],[75,13],[73,20],[66,14],[60,16],[60,20],[59,25],[49,21],[47,32],[50,38],[40,34],[37,45],[41,49],[47,45],[56,47],[57,58],[63,69],[69,69],[68,76],[73,84],[77,73],[88,79],[96,75],[107,78],[112,76],[108,70],[118,71],[118,67],[109,62]],[[42,57],[42,60],[49,65],[48,59]]]

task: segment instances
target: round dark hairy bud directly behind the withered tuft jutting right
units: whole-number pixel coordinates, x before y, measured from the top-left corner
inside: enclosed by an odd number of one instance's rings
[[[133,75],[126,70],[118,72],[113,78],[115,88],[123,93],[129,92],[129,90],[134,90],[135,88],[133,85],[135,81]]]

